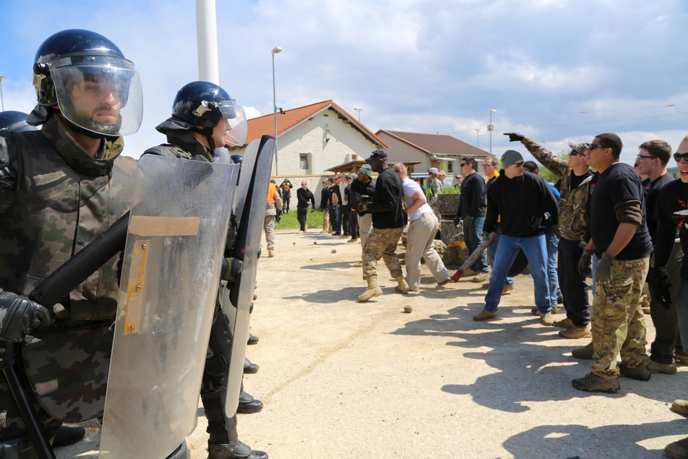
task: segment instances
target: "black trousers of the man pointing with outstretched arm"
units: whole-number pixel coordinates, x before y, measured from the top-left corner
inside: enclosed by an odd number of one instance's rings
[[[578,241],[559,238],[557,273],[566,317],[577,327],[585,327],[590,323],[590,300],[588,282],[578,272],[578,261],[583,255],[583,248],[578,244]]]

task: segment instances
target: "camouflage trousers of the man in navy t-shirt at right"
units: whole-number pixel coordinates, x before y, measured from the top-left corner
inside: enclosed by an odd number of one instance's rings
[[[649,255],[612,261],[612,282],[597,284],[592,301],[592,372],[605,378],[619,376],[616,356],[627,367],[647,365],[645,317],[640,307]]]

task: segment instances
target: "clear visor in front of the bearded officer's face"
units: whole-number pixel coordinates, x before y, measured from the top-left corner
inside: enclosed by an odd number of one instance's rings
[[[50,69],[60,111],[83,129],[106,136],[134,134],[143,118],[141,80],[131,61],[84,58]]]

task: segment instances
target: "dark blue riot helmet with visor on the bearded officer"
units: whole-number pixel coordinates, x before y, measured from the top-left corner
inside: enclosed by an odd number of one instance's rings
[[[58,106],[76,127],[100,136],[138,131],[143,95],[138,72],[105,36],[71,29],[48,37],[36,52],[34,87],[39,105],[29,117],[40,125]]]

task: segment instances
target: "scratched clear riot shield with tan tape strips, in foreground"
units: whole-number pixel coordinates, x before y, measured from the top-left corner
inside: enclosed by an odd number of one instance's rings
[[[139,161],[100,458],[164,458],[195,426],[238,169]]]

